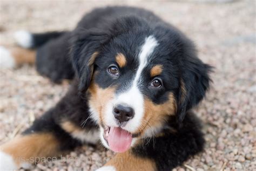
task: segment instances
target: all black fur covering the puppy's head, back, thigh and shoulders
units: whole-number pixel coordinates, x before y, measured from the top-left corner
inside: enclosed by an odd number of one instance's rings
[[[46,37],[47,40],[34,36],[35,42],[41,42],[35,46],[45,43],[37,50],[36,64],[39,73],[55,82],[64,78],[76,79],[56,107],[36,120],[25,134],[49,131],[59,138],[65,148],[79,146],[81,142],[72,139],[63,131],[59,126],[60,122],[70,120],[80,126],[89,117],[85,92],[95,71],[98,71],[95,83],[101,88],[115,85],[116,93],[125,91],[126,85],[138,69],[138,59],[134,56],[138,55],[138,49],[145,37],[150,35],[156,37],[159,46],[151,55],[152,65],[147,66],[142,73],[144,77],[140,91],[154,104],[163,104],[168,98],[167,95],[172,92],[178,102],[178,110],[176,117],[170,117],[166,122],[165,129],[161,132],[163,136],[157,137],[155,141],[150,140],[147,145],[135,147],[133,153],[153,159],[158,170],[171,170],[190,156],[201,152],[204,138],[200,123],[189,110],[205,96],[209,87],[208,73],[211,66],[197,57],[193,43],[183,33],[150,11],[130,7],[96,9],[85,15],[73,31],[53,34]],[[89,65],[94,52],[98,56]],[[127,65],[120,69],[123,75],[113,79],[106,69],[109,64],[114,63],[118,52],[125,55]],[[164,66],[163,75],[160,76],[164,80],[164,86],[158,90],[148,85],[152,79],[149,72],[153,64]],[[185,86],[185,95],[181,91],[181,81]],[[81,97],[79,93],[84,96]],[[181,100],[183,95],[185,98]],[[89,118],[85,128],[96,129],[97,125]],[[171,129],[175,131],[171,132]]]

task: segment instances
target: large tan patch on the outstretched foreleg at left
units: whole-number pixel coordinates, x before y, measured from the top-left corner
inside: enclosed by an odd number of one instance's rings
[[[57,156],[59,143],[50,133],[29,134],[19,136],[0,146],[3,151],[12,156],[17,166],[22,162],[33,162],[38,158]]]

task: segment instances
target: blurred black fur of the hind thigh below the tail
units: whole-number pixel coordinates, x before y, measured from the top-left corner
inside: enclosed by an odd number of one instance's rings
[[[71,33],[66,32],[63,36],[48,40],[46,44],[37,49],[37,71],[55,83],[59,83],[62,79],[72,79],[75,76],[69,59],[70,38]]]

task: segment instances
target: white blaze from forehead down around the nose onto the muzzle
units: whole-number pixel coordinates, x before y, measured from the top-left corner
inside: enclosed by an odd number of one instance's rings
[[[134,132],[141,125],[141,121],[144,115],[144,99],[143,94],[139,90],[140,76],[143,69],[146,67],[149,57],[154,51],[154,48],[158,45],[157,40],[153,36],[145,38],[140,52],[139,52],[139,67],[132,81],[131,87],[128,91],[119,94],[113,101],[111,101],[106,107],[106,123],[109,126],[117,126],[114,116],[112,114],[113,107],[118,104],[124,104],[134,109],[134,118],[127,122],[124,129],[129,132]]]

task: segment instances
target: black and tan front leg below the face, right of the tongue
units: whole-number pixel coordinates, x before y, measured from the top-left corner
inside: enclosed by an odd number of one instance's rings
[[[169,124],[155,138],[138,141],[137,146],[116,154],[98,170],[172,170],[203,151],[203,133],[192,113],[187,114],[181,127],[175,126],[175,119]]]

